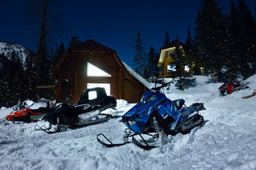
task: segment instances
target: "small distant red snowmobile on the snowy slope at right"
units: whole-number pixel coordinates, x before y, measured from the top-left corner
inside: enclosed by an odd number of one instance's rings
[[[234,91],[239,91],[241,89],[246,89],[249,88],[246,86],[246,84],[241,84],[240,81],[238,82],[232,82],[232,81],[227,81],[225,82],[220,88],[218,89],[220,91],[220,95],[225,96],[227,94],[232,94]]]

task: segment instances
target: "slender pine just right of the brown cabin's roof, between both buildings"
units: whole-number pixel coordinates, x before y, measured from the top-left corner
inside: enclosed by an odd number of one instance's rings
[[[146,69],[146,48],[141,33],[138,31],[136,34],[135,56],[132,60],[135,72],[144,78]]]

